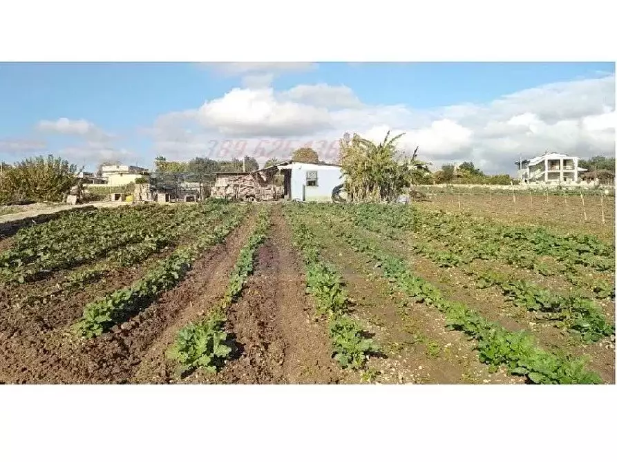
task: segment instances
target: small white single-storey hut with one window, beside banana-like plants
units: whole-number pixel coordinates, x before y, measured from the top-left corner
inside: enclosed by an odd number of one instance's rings
[[[343,183],[340,165],[287,161],[276,165],[283,172],[283,196],[292,201],[332,201],[332,191]]]

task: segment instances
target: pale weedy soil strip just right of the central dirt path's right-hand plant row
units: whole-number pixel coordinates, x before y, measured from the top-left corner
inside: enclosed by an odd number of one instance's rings
[[[354,300],[357,318],[381,346],[383,356],[369,360],[379,383],[520,383],[503,371],[490,373],[477,361],[473,345],[446,329],[444,316],[392,290],[361,254],[329,230],[319,230],[325,259],[336,265]]]

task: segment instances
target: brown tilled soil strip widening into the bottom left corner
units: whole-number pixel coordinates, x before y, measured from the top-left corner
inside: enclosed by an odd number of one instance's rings
[[[222,293],[227,274],[250,231],[250,219],[225,243],[198,259],[187,278],[144,312],[91,341],[78,341],[62,330],[37,335],[0,332],[0,382],[127,383],[146,352],[184,310],[203,294]],[[156,380],[153,380],[156,382]]]

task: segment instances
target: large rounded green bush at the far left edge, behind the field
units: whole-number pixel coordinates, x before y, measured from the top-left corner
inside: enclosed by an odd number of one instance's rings
[[[77,165],[51,154],[25,159],[10,169],[3,168],[0,201],[64,201],[70,188],[77,184],[79,171]]]

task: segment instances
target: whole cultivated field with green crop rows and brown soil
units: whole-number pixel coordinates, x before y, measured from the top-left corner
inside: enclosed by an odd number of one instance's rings
[[[22,228],[0,240],[0,382],[614,383],[613,210],[567,234],[489,200]]]

